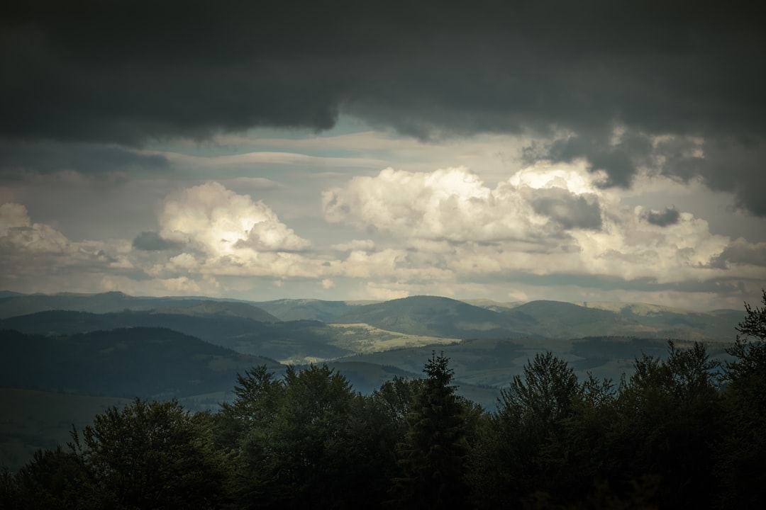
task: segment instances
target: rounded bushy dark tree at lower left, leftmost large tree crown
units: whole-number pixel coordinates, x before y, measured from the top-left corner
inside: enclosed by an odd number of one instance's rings
[[[209,414],[139,398],[73,433],[74,450],[111,508],[214,508],[224,499],[223,458]]]

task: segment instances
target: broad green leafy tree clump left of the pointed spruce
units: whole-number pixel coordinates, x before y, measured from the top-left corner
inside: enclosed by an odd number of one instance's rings
[[[343,501],[345,445],[356,398],[345,377],[326,365],[288,367],[280,382],[265,368],[240,381],[232,410],[244,409],[239,498],[247,507],[323,508]],[[230,411],[224,411],[230,412]],[[322,499],[324,495],[324,499]]]

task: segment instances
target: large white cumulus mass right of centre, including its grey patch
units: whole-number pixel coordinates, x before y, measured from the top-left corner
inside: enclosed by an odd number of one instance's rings
[[[650,211],[624,205],[619,190],[600,180],[577,164],[537,164],[493,188],[465,167],[388,168],[327,190],[323,206],[329,222],[401,243],[352,252],[341,267],[358,278],[417,283],[520,271],[668,283],[733,275],[711,263],[730,239],[712,234],[705,220],[673,210],[672,222],[649,221]]]

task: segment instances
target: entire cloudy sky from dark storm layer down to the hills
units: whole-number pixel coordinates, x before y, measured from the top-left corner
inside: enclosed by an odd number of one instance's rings
[[[766,31],[731,2],[15,3],[0,290],[766,287]]]

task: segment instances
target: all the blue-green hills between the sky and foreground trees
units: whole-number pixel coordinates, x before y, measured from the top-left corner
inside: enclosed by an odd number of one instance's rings
[[[280,375],[285,365],[311,362],[326,362],[368,392],[394,375],[420,376],[436,351],[450,358],[459,392],[493,408],[500,389],[537,353],[553,352],[578,376],[591,372],[616,382],[630,375],[637,357],[666,356],[668,339],[681,348],[702,341],[712,358],[726,359],[743,315],[651,304],[434,296],[250,302],[5,291],[0,404],[10,412],[0,424],[0,453],[12,450],[13,459],[24,460],[33,447],[66,435],[72,422],[61,421],[61,413],[42,426],[34,409],[56,401],[55,395],[88,410],[133,396],[215,409],[232,398],[236,376],[245,369],[267,365]],[[20,406],[24,398],[29,404]],[[88,412],[77,419],[87,422]],[[0,462],[15,465],[3,455]]]

